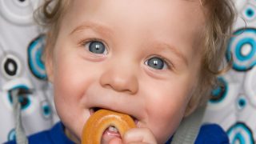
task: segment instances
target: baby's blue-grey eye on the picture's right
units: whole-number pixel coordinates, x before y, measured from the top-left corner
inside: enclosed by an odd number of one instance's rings
[[[150,58],[145,63],[147,66],[150,66],[156,70],[166,69],[166,62],[162,58]]]

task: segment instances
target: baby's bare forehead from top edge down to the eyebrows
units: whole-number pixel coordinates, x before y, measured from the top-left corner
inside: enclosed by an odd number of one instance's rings
[[[199,0],[74,0],[68,14],[71,23],[98,18],[126,27],[148,23],[189,31],[202,30],[205,21]]]

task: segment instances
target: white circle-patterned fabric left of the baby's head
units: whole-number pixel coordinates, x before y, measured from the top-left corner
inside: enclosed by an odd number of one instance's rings
[[[36,0],[0,0],[0,143],[15,138],[10,90],[33,90],[20,98],[26,134],[49,129],[56,113],[41,60],[44,37],[33,20]]]

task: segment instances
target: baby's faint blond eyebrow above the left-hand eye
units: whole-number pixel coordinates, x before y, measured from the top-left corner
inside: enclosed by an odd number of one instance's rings
[[[104,34],[108,37],[110,37],[113,34],[110,28],[108,28],[108,26],[104,26],[98,22],[86,21],[86,22],[82,22],[82,25],[77,26],[74,30],[72,30],[70,35],[74,33],[82,32],[84,30],[93,30],[99,34]]]

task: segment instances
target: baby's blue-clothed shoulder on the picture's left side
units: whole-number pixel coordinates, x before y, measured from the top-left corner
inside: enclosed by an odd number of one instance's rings
[[[70,141],[69,138],[66,137],[66,134],[64,134],[64,128],[62,125],[62,122],[58,122],[54,125],[50,130],[44,130],[42,132],[39,132],[37,134],[32,134],[28,137],[30,144],[45,144],[45,143],[51,143],[51,144],[57,144],[57,143],[63,143],[63,144],[73,144],[74,142]],[[6,142],[6,144],[14,144],[16,142]]]

